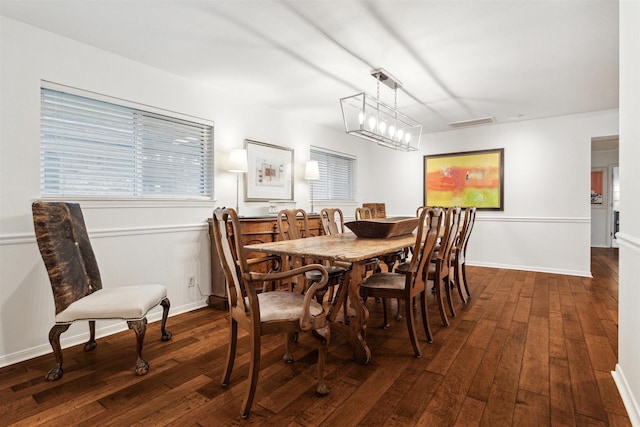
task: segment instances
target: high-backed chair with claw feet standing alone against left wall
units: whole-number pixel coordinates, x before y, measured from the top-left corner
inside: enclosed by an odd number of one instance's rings
[[[85,351],[98,345],[95,339],[96,320],[125,320],[137,339],[138,360],[135,372],[145,375],[149,363],[142,358],[142,346],[147,327],[147,312],[162,306],[162,341],[171,339],[166,330],[169,315],[167,289],[163,285],[102,287],[100,271],[91,248],[80,205],[65,202],[36,201],[32,204],[33,226],[42,260],[49,274],[55,304],[56,321],[49,332],[56,365],[45,378],[60,379],[62,347],[60,335],[77,320],[89,321],[89,341]]]

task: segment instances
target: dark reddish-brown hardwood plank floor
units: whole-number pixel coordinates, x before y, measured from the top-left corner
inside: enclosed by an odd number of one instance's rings
[[[200,309],[169,319],[167,343],[159,323],[149,325],[144,377],[133,373],[131,331],[100,339],[90,353],[66,349],[64,377],[54,383],[44,380],[52,354],[0,369],[0,425],[628,426],[611,377],[617,265],[617,250],[594,249],[593,279],[469,267],[470,303],[456,299],[449,328],[431,304],[434,342],[422,342],[421,359],[413,357],[404,319],[378,328],[382,311],[371,300],[372,361],[352,362],[345,337],[334,332],[324,398],[314,395],[311,338],[293,346],[293,364],[281,360],[280,336],[265,339],[247,420],[239,416],[247,336],[222,388],[227,316]]]

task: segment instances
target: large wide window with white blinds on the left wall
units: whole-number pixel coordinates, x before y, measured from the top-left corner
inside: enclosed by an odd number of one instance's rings
[[[213,196],[211,123],[52,87],[40,91],[43,196]]]

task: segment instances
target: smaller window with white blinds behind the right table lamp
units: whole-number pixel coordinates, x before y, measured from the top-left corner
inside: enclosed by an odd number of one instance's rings
[[[355,158],[312,147],[311,160],[320,169],[320,179],[311,181],[315,200],[355,200]]]

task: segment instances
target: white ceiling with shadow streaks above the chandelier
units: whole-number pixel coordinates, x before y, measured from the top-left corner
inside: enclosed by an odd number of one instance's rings
[[[0,0],[0,14],[336,128],[339,98],[375,96],[379,67],[427,133],[618,107],[616,0]]]

